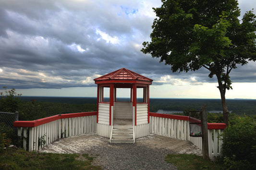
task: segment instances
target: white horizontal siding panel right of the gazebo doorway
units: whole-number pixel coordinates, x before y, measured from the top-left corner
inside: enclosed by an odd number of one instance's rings
[[[136,115],[136,125],[147,124],[147,104],[137,104]]]

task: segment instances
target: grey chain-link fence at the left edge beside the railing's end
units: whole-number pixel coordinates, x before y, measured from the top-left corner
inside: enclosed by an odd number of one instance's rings
[[[19,112],[7,113],[0,112],[0,123],[5,123],[9,127],[13,127],[13,122],[19,120]]]

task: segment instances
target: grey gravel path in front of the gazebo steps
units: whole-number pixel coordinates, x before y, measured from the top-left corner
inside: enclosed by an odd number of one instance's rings
[[[103,170],[176,170],[164,160],[167,154],[173,153],[168,149],[148,149],[138,143],[110,144],[91,153],[99,154],[93,164],[102,166]]]

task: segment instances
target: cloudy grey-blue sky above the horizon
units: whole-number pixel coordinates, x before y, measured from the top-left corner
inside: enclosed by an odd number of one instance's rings
[[[256,9],[255,0],[239,3],[242,14]],[[207,70],[172,73],[140,51],[150,41],[152,7],[160,5],[160,0],[0,0],[0,86],[23,96],[96,97],[93,79],[127,68],[154,80],[151,98],[220,98]],[[233,70],[231,79],[226,98],[256,99],[256,63]]]

